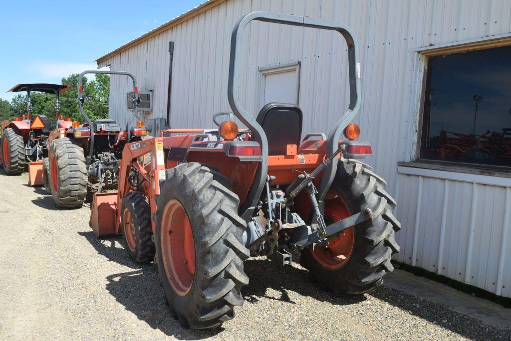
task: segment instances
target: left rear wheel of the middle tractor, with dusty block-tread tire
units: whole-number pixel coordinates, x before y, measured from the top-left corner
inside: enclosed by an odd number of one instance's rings
[[[64,137],[52,142],[49,155],[53,201],[59,207],[81,207],[87,193],[83,149]]]

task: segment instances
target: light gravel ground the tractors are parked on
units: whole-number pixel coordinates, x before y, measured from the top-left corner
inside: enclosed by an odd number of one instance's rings
[[[382,286],[335,297],[298,264],[246,262],[250,284],[234,320],[182,329],[153,264],[134,264],[120,238],[98,240],[89,207],[58,210],[27,175],[0,170],[0,339],[511,339],[449,307]]]

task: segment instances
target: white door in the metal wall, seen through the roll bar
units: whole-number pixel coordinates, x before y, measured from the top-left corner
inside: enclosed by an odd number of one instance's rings
[[[261,72],[261,108],[272,102],[298,104],[298,64],[264,69]]]

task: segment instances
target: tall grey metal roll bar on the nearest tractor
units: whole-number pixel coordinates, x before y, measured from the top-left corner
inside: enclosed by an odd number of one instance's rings
[[[308,18],[303,16],[279,14],[272,12],[256,11],[241,17],[233,29],[230,41],[230,62],[229,62],[229,81],[227,88],[227,97],[229,105],[234,114],[251,131],[256,141],[261,145],[263,162],[258,167],[254,183],[250,188],[247,199],[241,207],[242,217],[248,219],[257,204],[263,190],[266,175],[268,173],[268,139],[263,128],[257,123],[255,118],[248,113],[240,101],[240,74],[243,56],[243,32],[248,23],[252,20],[280,23],[283,25],[309,27],[314,29],[331,30],[339,32],[347,43],[348,64],[350,74],[350,105],[346,112],[334,124],[328,135],[327,155],[333,154],[337,150],[338,140],[346,126],[355,118],[360,108],[360,62],[358,51],[358,40],[350,27],[341,25],[339,22]],[[319,186],[319,200],[322,201],[334,180],[337,171],[337,162],[332,162],[325,170]]]

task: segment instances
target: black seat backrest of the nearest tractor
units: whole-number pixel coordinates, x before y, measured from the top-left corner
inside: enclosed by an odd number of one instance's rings
[[[300,145],[303,113],[294,104],[268,103],[257,122],[268,138],[268,155],[286,155],[287,145]]]

